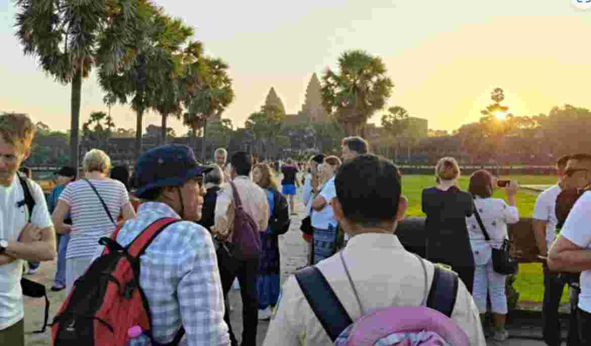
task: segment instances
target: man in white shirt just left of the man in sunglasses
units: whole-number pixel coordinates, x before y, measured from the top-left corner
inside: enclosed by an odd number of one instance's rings
[[[538,244],[540,256],[547,257],[548,249],[556,239],[556,197],[562,191],[560,184],[564,178],[564,171],[569,162],[570,156],[565,155],[556,161],[556,172],[558,182],[556,185],[541,192],[535,201],[534,213],[532,215],[532,227],[534,229],[535,241]],[[544,300],[542,305],[543,314],[543,335],[548,346],[561,344],[562,335],[560,332],[560,319],[558,319],[558,306],[566,282],[563,276],[548,270],[547,263],[543,264],[544,269]],[[571,328],[572,329],[572,328]],[[574,329],[572,329],[574,330]]]

